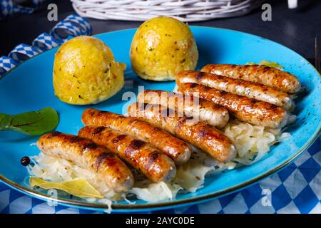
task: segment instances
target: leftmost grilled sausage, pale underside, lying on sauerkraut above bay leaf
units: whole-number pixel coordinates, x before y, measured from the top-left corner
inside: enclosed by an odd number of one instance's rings
[[[37,146],[45,155],[61,157],[96,172],[116,192],[127,192],[133,187],[133,174],[125,163],[91,140],[54,131],[42,135]]]

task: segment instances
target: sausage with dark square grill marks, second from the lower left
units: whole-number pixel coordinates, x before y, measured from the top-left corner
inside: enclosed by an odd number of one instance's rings
[[[103,126],[86,126],[79,130],[78,135],[116,153],[152,182],[170,182],[175,177],[173,160],[142,140]]]

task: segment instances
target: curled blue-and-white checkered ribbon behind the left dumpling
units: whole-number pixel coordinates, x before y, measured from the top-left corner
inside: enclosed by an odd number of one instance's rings
[[[6,0],[7,1],[7,0]],[[34,4],[40,3],[41,0],[34,0]],[[1,5],[2,4],[2,5]],[[0,0],[0,5],[3,7],[4,1]],[[26,59],[38,55],[43,51],[61,45],[74,36],[91,35],[91,24],[77,14],[71,14],[58,22],[49,33],[41,33],[32,42],[32,46],[21,43],[9,53],[9,56],[0,57],[0,78],[16,67],[19,63]]]

